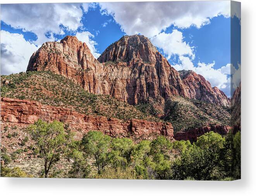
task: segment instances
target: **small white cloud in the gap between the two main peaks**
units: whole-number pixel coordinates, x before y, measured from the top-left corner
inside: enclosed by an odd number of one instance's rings
[[[91,40],[91,38],[94,37],[93,34],[91,34],[89,31],[77,32],[76,37],[80,41],[86,43],[95,58],[100,56],[100,53],[98,53],[97,49],[95,48],[95,45],[97,45],[96,41]]]

